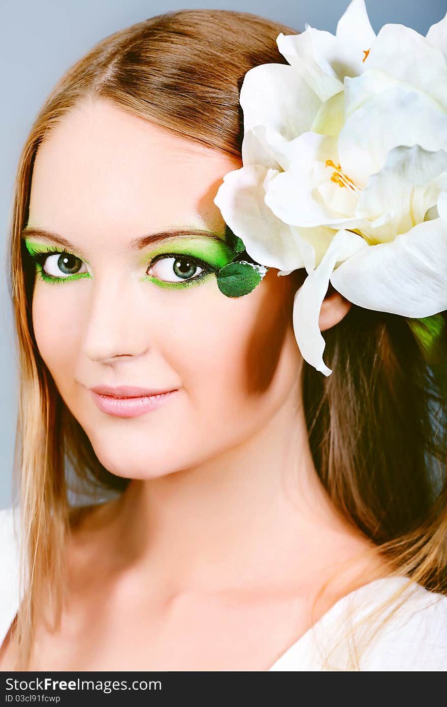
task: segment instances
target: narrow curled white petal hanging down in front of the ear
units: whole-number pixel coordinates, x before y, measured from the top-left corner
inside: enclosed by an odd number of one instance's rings
[[[321,336],[318,319],[321,304],[329,285],[330,273],[336,262],[349,258],[357,250],[369,246],[357,233],[349,230],[339,230],[335,233],[321,263],[304,280],[295,293],[293,306],[293,328],[299,351],[311,366],[330,375],[332,370],[323,361],[323,351],[326,346]]]

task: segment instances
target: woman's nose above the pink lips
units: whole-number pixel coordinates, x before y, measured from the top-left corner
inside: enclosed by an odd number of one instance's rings
[[[131,281],[115,276],[95,279],[85,312],[83,352],[91,361],[112,362],[121,356],[140,356],[148,350],[147,316],[138,305]]]

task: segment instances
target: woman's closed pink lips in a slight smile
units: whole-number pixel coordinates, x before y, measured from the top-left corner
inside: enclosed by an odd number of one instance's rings
[[[174,393],[178,392],[178,389],[152,391],[147,388],[124,385],[115,388],[97,385],[90,388],[90,392],[95,404],[103,412],[118,417],[136,417],[160,407]]]

